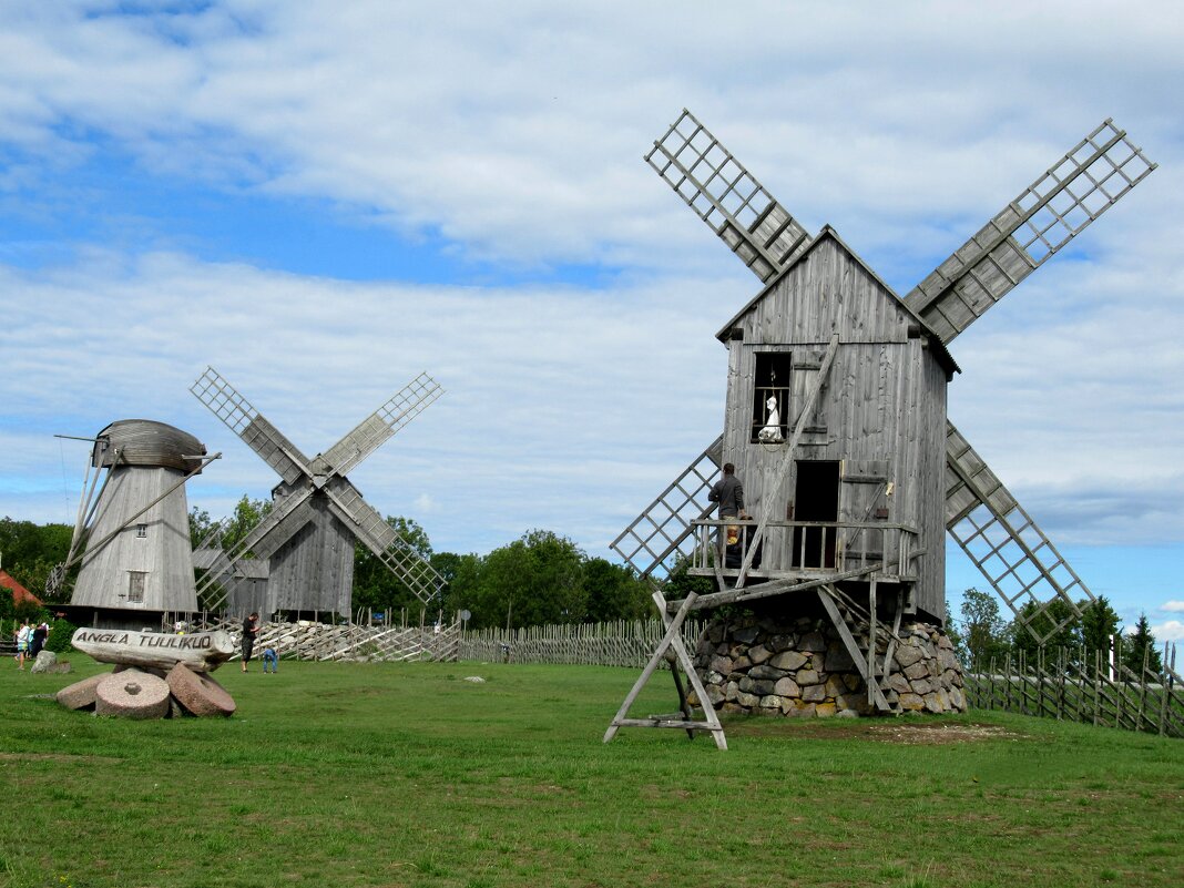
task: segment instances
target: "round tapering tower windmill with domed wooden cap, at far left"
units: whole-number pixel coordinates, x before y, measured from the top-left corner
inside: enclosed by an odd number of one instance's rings
[[[150,419],[111,423],[94,442],[70,554],[51,586],[77,565],[72,616],[91,625],[195,611],[185,482],[220,455],[207,457],[192,435]]]

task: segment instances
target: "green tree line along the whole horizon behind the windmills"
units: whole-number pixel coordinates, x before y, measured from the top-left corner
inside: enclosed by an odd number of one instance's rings
[[[255,525],[271,510],[271,503],[244,496],[221,522],[194,507],[189,511],[189,535],[194,547],[221,525],[220,545],[233,549]],[[645,580],[630,568],[603,558],[587,555],[572,540],[552,530],[528,530],[517,540],[485,555],[436,552],[426,530],[412,519],[387,516],[387,523],[444,578],[438,600],[427,605],[429,618],[443,612],[451,619],[458,611],[469,611],[469,626],[522,626],[546,623],[598,623],[636,619],[652,612]],[[31,521],[0,519],[0,567],[37,596],[54,565],[65,560],[72,528],[69,525],[34,525]],[[251,553],[247,553],[250,556]],[[676,571],[667,584],[668,597],[694,590],[712,591],[709,578],[688,577]],[[66,592],[66,596],[69,592]],[[391,614],[406,613],[418,619],[424,604],[392,574],[365,546],[354,548],[354,607],[367,607]],[[0,616],[12,616],[12,599],[0,596]],[[1101,597],[1094,603],[1080,601],[1082,616],[1073,614],[1062,600],[1054,600],[1047,614],[1037,614],[1029,603],[1021,611],[1042,635],[1060,623],[1064,625],[1045,642],[1049,648],[1111,649],[1111,638],[1122,636],[1120,656],[1125,665],[1138,673],[1146,652],[1148,665],[1163,668],[1162,657],[1146,614],[1140,614],[1133,630],[1124,635],[1119,616]],[[1034,656],[1037,642],[1019,619],[1008,622],[999,612],[998,599],[976,588],[963,596],[960,620],[946,625],[966,663],[989,664],[1021,651]],[[1049,622],[1049,620],[1053,622]]]

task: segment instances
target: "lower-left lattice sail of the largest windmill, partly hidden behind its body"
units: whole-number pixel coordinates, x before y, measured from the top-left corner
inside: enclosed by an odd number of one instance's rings
[[[669,577],[677,561],[691,556],[690,522],[707,517],[714,508],[707,495],[719,477],[722,451],[721,435],[610,543],[642,577]]]

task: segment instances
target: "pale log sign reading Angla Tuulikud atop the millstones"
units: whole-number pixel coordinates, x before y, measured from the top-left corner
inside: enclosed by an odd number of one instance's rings
[[[79,629],[71,643],[101,663],[165,670],[184,663],[195,673],[210,673],[234,656],[234,643],[221,630],[166,635],[123,629]]]

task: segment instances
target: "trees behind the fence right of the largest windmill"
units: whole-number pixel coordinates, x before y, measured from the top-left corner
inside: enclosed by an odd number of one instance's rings
[[[1122,665],[1141,675],[1146,657],[1148,669],[1156,673],[1163,670],[1163,657],[1146,613],[1140,613],[1134,628],[1126,632],[1106,596],[1099,596],[1095,601],[1082,599],[1076,604],[1080,616],[1060,598],[1048,603],[1043,612],[1041,605],[1029,601],[1021,607],[1019,616],[1009,622],[1003,619],[996,596],[967,588],[963,593],[961,619],[947,619],[946,625],[961,661],[972,668],[986,669],[992,659],[1002,664],[1008,655],[1024,654],[1034,658],[1041,645],[1025,625],[1031,624],[1042,637],[1047,636],[1045,649],[1064,648],[1070,658],[1083,651],[1102,651],[1108,657],[1118,636]]]

